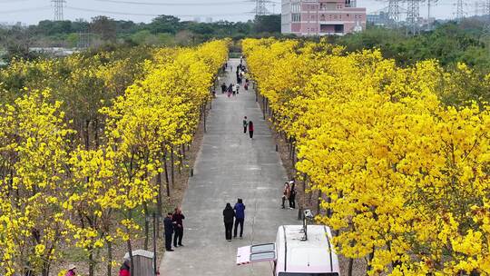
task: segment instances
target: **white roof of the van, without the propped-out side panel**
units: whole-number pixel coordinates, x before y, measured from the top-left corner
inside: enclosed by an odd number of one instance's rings
[[[286,242],[286,246],[282,247],[285,251],[278,252],[278,261],[286,259],[286,271],[339,273],[338,257],[330,243],[330,229],[324,225],[308,225],[308,241],[302,241],[302,229],[302,225],[279,228],[280,235],[285,235],[280,242]]]

